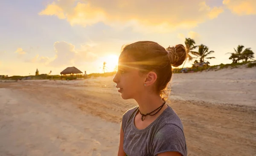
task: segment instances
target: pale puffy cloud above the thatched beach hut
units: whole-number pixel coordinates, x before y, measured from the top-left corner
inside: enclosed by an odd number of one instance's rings
[[[84,62],[95,61],[97,55],[90,51],[93,45],[84,44],[80,49],[76,49],[71,43],[58,41],[54,43],[55,58],[49,66],[75,66]]]

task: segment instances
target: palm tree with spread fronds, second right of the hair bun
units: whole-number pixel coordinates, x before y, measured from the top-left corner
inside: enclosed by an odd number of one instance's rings
[[[204,44],[201,44],[200,46],[195,46],[198,47],[198,52],[191,52],[191,54],[196,55],[197,58],[200,58],[200,63],[204,62],[204,59],[212,59],[215,57],[207,57],[207,55],[212,54],[214,51],[208,51],[209,48],[205,46]]]

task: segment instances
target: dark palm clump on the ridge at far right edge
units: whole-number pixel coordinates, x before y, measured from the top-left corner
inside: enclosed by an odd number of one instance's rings
[[[247,61],[248,59],[253,59],[254,58],[254,53],[250,48],[244,49],[243,45],[238,45],[237,49],[234,48],[235,52],[231,53],[228,52],[226,54],[231,54],[230,60],[232,60],[232,63],[239,63],[240,60],[242,61]]]

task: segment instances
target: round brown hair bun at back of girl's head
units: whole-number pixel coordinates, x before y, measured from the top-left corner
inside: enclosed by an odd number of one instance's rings
[[[178,44],[175,47],[168,47],[169,58],[172,66],[180,66],[183,64],[187,57],[186,48],[182,44]]]

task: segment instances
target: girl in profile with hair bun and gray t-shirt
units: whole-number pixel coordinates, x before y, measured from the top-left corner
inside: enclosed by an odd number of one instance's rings
[[[172,66],[187,57],[182,44],[167,51],[152,41],[125,46],[113,78],[123,99],[138,106],[122,116],[118,156],[187,156],[183,124],[166,102]]]

